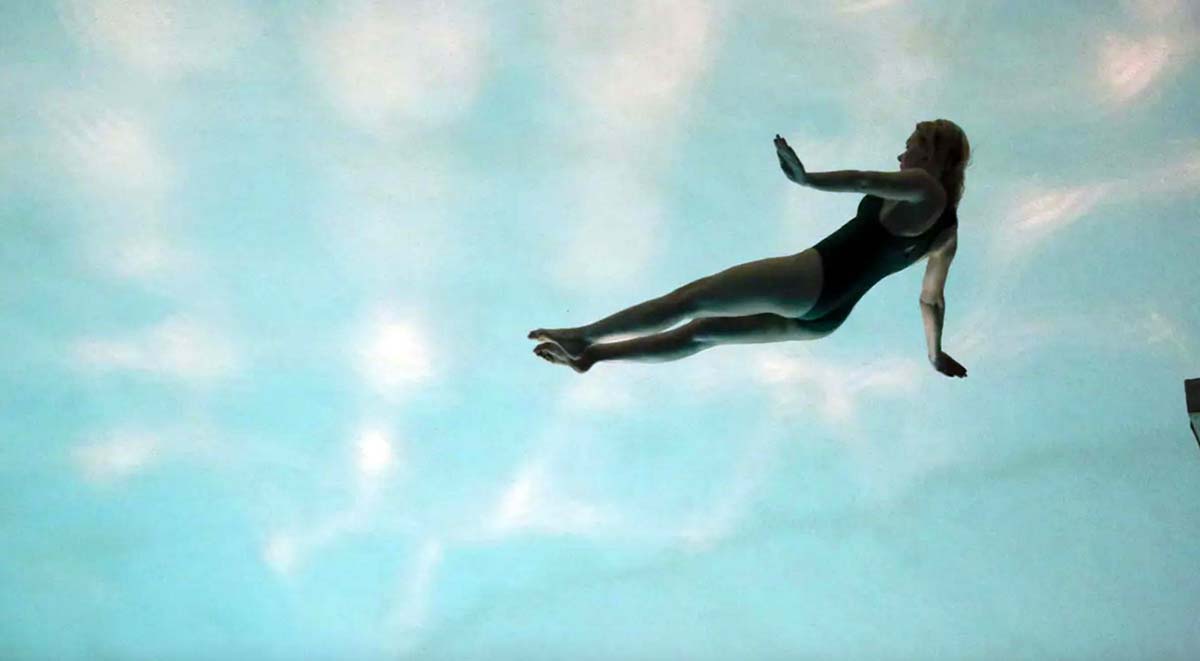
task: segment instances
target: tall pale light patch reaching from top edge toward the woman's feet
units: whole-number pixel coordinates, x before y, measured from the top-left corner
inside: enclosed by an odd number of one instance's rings
[[[718,11],[703,0],[542,6],[552,67],[584,118],[563,137],[581,152],[572,230],[556,238],[551,268],[578,294],[628,287],[666,248],[650,182],[713,56]]]

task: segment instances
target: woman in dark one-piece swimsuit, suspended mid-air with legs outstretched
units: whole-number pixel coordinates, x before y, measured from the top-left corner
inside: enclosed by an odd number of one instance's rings
[[[962,130],[944,119],[918,124],[898,157],[900,172],[809,173],[779,136],[775,151],[784,174],[800,186],[866,193],[857,216],[804,252],[726,269],[587,326],[530,331],[530,339],[545,341],[534,353],[582,373],[601,360],[661,362],[718,344],[816,339],[836,330],[876,282],[928,257],[920,311],[929,360],[948,377],[966,377],[941,345],[971,156]],[[629,332],[653,335],[598,342]]]

